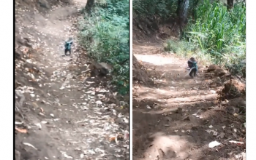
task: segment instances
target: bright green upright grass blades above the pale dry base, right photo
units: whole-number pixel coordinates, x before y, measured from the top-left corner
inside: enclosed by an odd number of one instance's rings
[[[241,47],[245,42],[245,12],[241,3],[227,12],[223,4],[206,0],[197,7],[195,21],[190,21],[186,36],[208,51]]]

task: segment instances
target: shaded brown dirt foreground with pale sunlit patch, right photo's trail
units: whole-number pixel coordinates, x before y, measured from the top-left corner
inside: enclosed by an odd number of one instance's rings
[[[152,103],[159,102],[144,100],[140,106],[150,106]],[[161,156],[161,150],[164,153],[161,159],[230,159],[233,154],[240,153],[240,147],[226,141],[236,140],[229,124],[235,125],[236,128],[239,125],[234,124],[233,119],[229,119],[222,111],[213,111],[211,106],[211,102],[179,105],[182,109],[180,113],[177,108],[164,108],[160,111],[154,108],[150,111],[134,108],[133,153],[136,158],[143,156],[146,159],[156,159]],[[195,113],[202,118],[193,116]],[[209,127],[211,125],[213,128]],[[224,126],[225,129],[222,128]],[[209,130],[211,133],[206,132]],[[225,137],[217,138],[213,131],[217,131],[218,135],[225,132]],[[236,136],[240,137],[243,134],[240,132]],[[208,148],[208,144],[214,140],[222,145]]]

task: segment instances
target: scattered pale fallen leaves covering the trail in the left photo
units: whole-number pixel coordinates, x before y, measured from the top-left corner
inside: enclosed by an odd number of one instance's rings
[[[56,31],[53,31],[52,28],[49,29],[48,26],[45,26],[46,28],[52,33],[57,33],[63,30],[63,25],[56,28]],[[23,32],[22,28],[20,29],[20,32]],[[37,35],[27,35],[31,39],[34,49],[44,48],[49,53],[48,55],[42,53],[42,60],[47,61],[47,63],[37,61],[33,57],[26,59],[26,63],[39,66],[40,74],[31,73],[31,70],[24,68],[25,63],[22,61],[16,63],[16,68],[20,71],[25,71],[26,76],[29,77],[29,81],[34,81],[37,86],[27,86],[18,82],[21,87],[16,88],[15,91],[20,92],[20,95],[26,97],[26,101],[22,99],[22,102],[15,105],[17,112],[23,113],[23,110],[25,110],[24,103],[26,103],[26,110],[28,111],[30,109],[29,106],[32,105],[34,106],[34,112],[38,113],[41,122],[38,123],[38,119],[35,122],[25,116],[27,123],[15,121],[15,126],[24,125],[27,129],[20,129],[18,127],[15,127],[15,129],[21,133],[30,133],[31,130],[29,128],[31,127],[29,126],[33,126],[34,124],[37,128],[34,132],[40,132],[41,134],[45,132],[44,126],[48,125],[50,128],[46,132],[54,137],[58,135],[61,140],[61,143],[57,143],[53,139],[47,140],[55,143],[56,149],[62,155],[61,159],[64,159],[64,157],[67,159],[127,158],[129,156],[129,115],[119,113],[116,108],[124,108],[128,104],[125,102],[121,102],[121,105],[118,103],[109,104],[106,101],[108,98],[107,93],[110,92],[108,87],[100,86],[95,81],[73,79],[76,76],[75,73],[68,70],[72,62],[67,62],[65,57],[62,58],[56,55],[56,49],[48,44],[56,42],[49,42],[48,39],[50,37],[45,39],[42,36],[46,35],[43,31],[45,30],[42,28],[42,32],[37,33]],[[67,29],[67,31],[70,30]],[[67,34],[68,36],[72,35],[71,32]],[[59,39],[58,43],[59,41],[61,40]],[[74,46],[72,61],[78,60],[78,52],[75,52],[76,45]],[[29,50],[26,50],[26,52],[28,53]],[[52,68],[55,71],[52,71],[52,74],[47,76],[46,69],[50,71]],[[116,92],[112,95],[116,96]],[[18,98],[20,97],[17,95]],[[113,119],[117,118],[121,119],[122,123],[119,124],[113,121]],[[70,125],[72,125],[72,128]],[[109,141],[112,135],[115,137],[114,141],[116,145],[113,145]],[[39,150],[39,148],[35,148],[30,143],[23,143],[23,145],[28,145],[35,150]],[[110,149],[105,149],[107,148],[106,145],[110,146]],[[61,146],[64,146],[65,149],[63,147],[61,149]],[[73,152],[75,150],[74,148],[80,148],[80,153]],[[111,158],[111,156],[106,155],[113,155],[113,157]],[[60,155],[56,153],[53,157],[58,156]],[[48,158],[43,157],[42,159]]]

